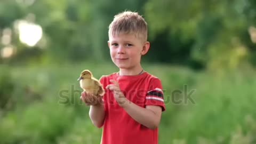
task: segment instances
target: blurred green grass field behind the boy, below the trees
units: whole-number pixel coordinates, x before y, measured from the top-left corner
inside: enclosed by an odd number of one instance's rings
[[[255,71],[217,75],[182,67],[145,65],[162,79],[166,111],[159,126],[159,143],[256,143]],[[62,66],[9,67],[0,75],[0,86],[9,98],[1,110],[1,143],[99,143],[101,129],[94,127],[89,108],[79,100],[77,78],[90,69],[96,78],[118,71],[109,63]],[[6,89],[8,84],[13,89]],[[196,90],[185,102],[184,86]],[[175,95],[181,103],[172,100]],[[65,98],[60,93],[66,91]],[[73,91],[73,92],[71,92]]]

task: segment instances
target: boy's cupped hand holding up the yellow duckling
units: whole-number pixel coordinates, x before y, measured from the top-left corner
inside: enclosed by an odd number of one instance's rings
[[[87,106],[95,106],[103,103],[102,98],[96,97],[95,95],[88,95],[85,91],[81,93],[80,99],[87,105]]]

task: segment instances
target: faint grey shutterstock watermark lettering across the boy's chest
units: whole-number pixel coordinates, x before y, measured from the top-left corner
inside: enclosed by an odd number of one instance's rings
[[[171,92],[166,91],[165,89],[161,91],[148,91],[148,90],[130,90],[124,91],[121,90],[127,99],[132,100],[138,105],[143,105],[146,100],[150,101],[151,104],[157,104],[159,101],[165,103],[165,105],[196,105],[196,101],[193,97],[196,93],[196,89],[189,90],[187,84],[184,84],[182,89],[176,89]],[[82,100],[80,99],[82,89],[76,89],[75,85],[70,85],[70,89],[60,90],[59,91],[59,101],[60,105],[83,105]],[[111,96],[111,91],[106,91],[103,97],[108,97],[108,103],[115,104],[116,100]],[[163,93],[163,94],[161,94]],[[134,96],[135,95],[135,96]],[[106,102],[106,101],[105,101]]]

